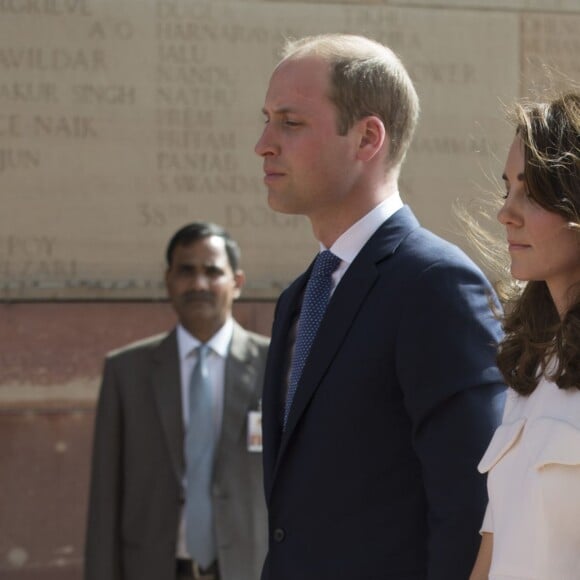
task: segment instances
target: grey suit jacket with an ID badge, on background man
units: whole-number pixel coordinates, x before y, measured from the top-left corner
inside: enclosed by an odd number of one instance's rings
[[[258,408],[266,337],[235,324],[213,481],[222,580],[256,580],[267,518],[262,458],[246,447]],[[174,580],[183,493],[176,332],[108,355],[98,401],[85,546],[86,580]]]

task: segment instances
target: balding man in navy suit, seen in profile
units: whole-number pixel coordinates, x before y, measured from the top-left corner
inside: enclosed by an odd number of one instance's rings
[[[503,405],[501,330],[480,270],[399,196],[413,84],[381,44],[311,37],[286,47],[263,112],[269,205],[307,216],[337,264],[311,345],[312,266],[276,308],[262,579],[466,580],[486,504],[476,465]]]

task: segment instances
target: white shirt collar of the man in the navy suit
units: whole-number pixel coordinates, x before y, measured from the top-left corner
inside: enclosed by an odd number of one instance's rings
[[[355,222],[332,244],[330,251],[343,262],[351,264],[371,236],[381,224],[403,207],[401,196],[397,191],[387,197],[369,213]],[[321,244],[321,250],[325,250]]]

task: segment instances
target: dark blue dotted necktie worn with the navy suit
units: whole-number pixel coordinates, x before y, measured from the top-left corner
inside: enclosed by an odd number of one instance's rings
[[[308,358],[310,347],[312,346],[312,342],[320,326],[320,321],[328,305],[330,290],[332,288],[332,273],[338,268],[339,264],[340,258],[335,256],[330,250],[320,252],[316,256],[308,284],[306,284],[302,309],[300,310],[300,317],[298,319],[294,356],[292,357],[292,365],[290,367],[288,394],[284,407],[284,428],[286,428],[292,401],[294,400],[296,388],[302,376],[302,370]]]

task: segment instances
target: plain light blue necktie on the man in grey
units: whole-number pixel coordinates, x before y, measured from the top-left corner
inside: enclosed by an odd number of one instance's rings
[[[190,556],[203,568],[216,559],[211,501],[215,426],[206,362],[208,350],[206,344],[197,348],[197,362],[189,381],[189,425],[185,435],[186,543]]]

